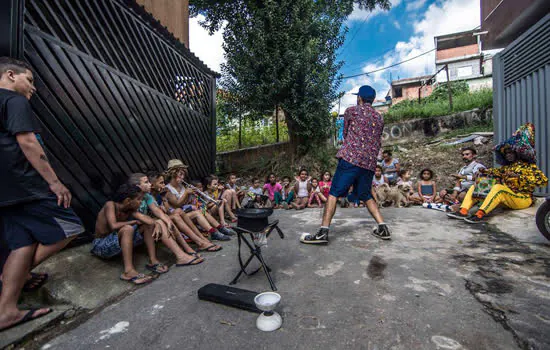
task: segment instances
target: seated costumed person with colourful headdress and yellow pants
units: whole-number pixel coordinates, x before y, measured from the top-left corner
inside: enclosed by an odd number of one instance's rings
[[[460,207],[460,212],[447,214],[451,218],[464,219],[468,223],[481,223],[483,217],[500,205],[510,209],[525,209],[533,203],[536,187],[546,186],[548,178],[537,168],[535,153],[535,127],[522,125],[511,138],[495,147],[496,161],[500,168],[481,169],[480,173],[494,177],[493,185],[479,210],[473,216],[468,211],[476,203],[475,186],[472,186]]]

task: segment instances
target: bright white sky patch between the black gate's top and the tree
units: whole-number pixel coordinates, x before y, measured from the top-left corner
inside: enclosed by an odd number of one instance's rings
[[[199,24],[203,20],[202,15],[189,19],[189,49],[210,69],[219,73],[221,64],[225,62],[222,47],[223,29],[209,35]]]

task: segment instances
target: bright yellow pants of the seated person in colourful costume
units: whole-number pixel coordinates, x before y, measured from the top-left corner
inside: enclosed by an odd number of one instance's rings
[[[473,194],[474,186],[470,187],[468,193],[466,193],[466,197],[460,206],[461,209],[470,210],[476,202],[481,200],[474,198]],[[487,195],[487,198],[483,200],[479,209],[483,210],[485,214],[489,214],[501,204],[510,209],[525,209],[529,208],[532,202],[531,196],[514,193],[508,186],[499,184],[491,188],[491,191]]]

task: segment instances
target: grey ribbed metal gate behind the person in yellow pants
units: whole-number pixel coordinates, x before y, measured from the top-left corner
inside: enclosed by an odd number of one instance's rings
[[[495,141],[521,124],[536,130],[538,166],[550,173],[550,14],[493,59]],[[550,186],[536,195],[550,194]]]

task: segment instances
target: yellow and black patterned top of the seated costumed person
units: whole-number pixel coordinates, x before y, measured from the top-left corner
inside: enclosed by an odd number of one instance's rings
[[[510,176],[513,174],[519,175]],[[533,194],[535,187],[543,187],[548,183],[548,178],[537,168],[536,164],[522,161],[504,165],[500,168],[491,168],[485,174],[498,177],[502,183],[516,193]]]

